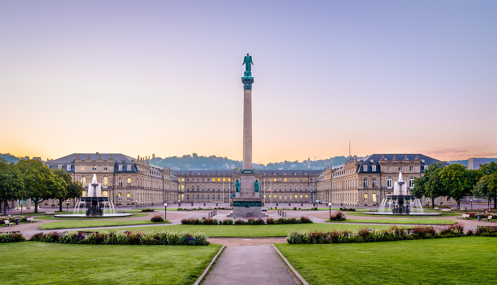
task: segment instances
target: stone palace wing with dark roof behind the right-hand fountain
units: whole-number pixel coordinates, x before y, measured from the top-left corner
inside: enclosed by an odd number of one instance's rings
[[[432,163],[441,162],[422,154],[373,154],[358,159],[350,158],[345,164],[326,169],[318,177],[318,199],[334,204],[372,206],[381,203],[402,173],[407,188],[414,188],[414,178]],[[448,164],[443,162],[444,166]],[[431,199],[419,197],[421,204]],[[438,197],[435,203],[454,204],[450,197]]]

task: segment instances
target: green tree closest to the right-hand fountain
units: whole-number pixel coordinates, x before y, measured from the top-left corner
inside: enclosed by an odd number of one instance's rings
[[[422,177],[414,178],[414,188],[411,193],[417,197],[425,196],[431,198],[431,207],[435,207],[435,198],[439,196],[447,196],[448,191],[443,186],[440,179],[440,171],[443,165],[441,162],[432,163],[424,170]]]

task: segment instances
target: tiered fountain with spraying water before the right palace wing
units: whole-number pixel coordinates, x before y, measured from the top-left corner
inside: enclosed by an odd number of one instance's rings
[[[410,195],[407,190],[406,182],[402,179],[402,172],[399,172],[399,179],[395,182],[394,193],[387,194],[381,202],[380,209],[377,212],[368,214],[373,215],[441,215],[440,213],[425,213],[421,202],[415,195]]]

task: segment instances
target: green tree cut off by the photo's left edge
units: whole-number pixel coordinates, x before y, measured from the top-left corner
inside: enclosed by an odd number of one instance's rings
[[[0,203],[3,202],[3,214],[7,214],[7,201],[23,198],[25,195],[19,170],[13,163],[0,158]]]

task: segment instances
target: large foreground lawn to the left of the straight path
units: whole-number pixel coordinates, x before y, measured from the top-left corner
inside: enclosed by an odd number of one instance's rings
[[[217,244],[0,244],[2,284],[193,284],[220,248],[221,245]]]

